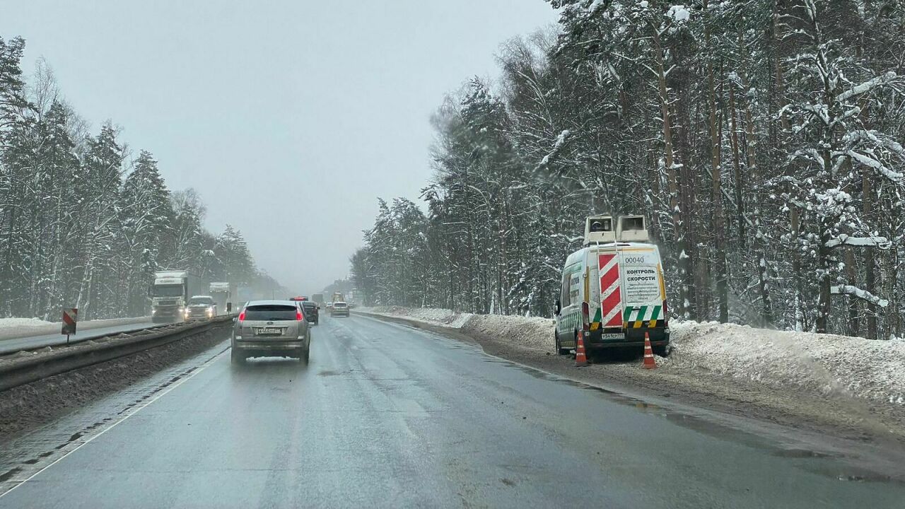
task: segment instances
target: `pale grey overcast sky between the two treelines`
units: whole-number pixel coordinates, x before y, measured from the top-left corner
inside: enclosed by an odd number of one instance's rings
[[[92,130],[121,125],[306,293],[348,273],[376,197],[418,197],[443,94],[557,18],[543,0],[3,3],[26,72],[43,56]]]

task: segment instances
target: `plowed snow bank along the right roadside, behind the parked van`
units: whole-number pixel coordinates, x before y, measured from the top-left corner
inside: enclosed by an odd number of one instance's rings
[[[459,329],[546,355],[554,350],[548,318],[457,313],[402,307],[370,312]],[[672,355],[657,359],[667,373],[710,371],[777,389],[796,387],[823,395],[849,395],[905,406],[905,341],[813,332],[754,329],[734,323],[670,323]]]

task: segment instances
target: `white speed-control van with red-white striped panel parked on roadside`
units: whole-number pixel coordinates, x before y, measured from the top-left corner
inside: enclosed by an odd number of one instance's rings
[[[585,247],[568,256],[556,303],[560,354],[585,348],[643,346],[644,332],[658,355],[669,353],[670,328],[660,250],[650,244],[643,216],[588,217]]]

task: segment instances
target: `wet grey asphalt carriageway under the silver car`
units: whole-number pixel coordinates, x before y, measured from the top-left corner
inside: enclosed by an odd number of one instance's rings
[[[313,338],[308,366],[268,359],[237,368],[229,351],[208,354],[128,418],[94,427],[78,437],[81,447],[62,447],[68,456],[47,453],[6,475],[3,489],[15,487],[0,507],[900,508],[905,501],[894,482],[841,480],[844,458],[776,454],[757,440],[691,426],[664,408],[429,332],[353,316],[324,319]],[[18,447],[37,455],[51,432]]]

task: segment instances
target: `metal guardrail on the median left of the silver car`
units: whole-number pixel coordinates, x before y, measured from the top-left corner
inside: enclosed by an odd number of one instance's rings
[[[12,389],[39,379],[65,373],[66,371],[78,370],[100,362],[132,355],[139,351],[150,350],[203,332],[225,329],[232,322],[232,315],[218,316],[205,322],[188,322],[175,329],[152,330],[132,338],[114,339],[90,345],[74,343],[69,347],[46,354],[35,353],[31,357],[6,358],[0,362],[0,390]],[[138,331],[142,330],[144,329],[139,329]],[[115,338],[123,333],[125,332],[118,331],[102,337]],[[97,340],[98,338],[95,337],[93,339]],[[85,341],[89,340],[84,339],[81,343]]]

